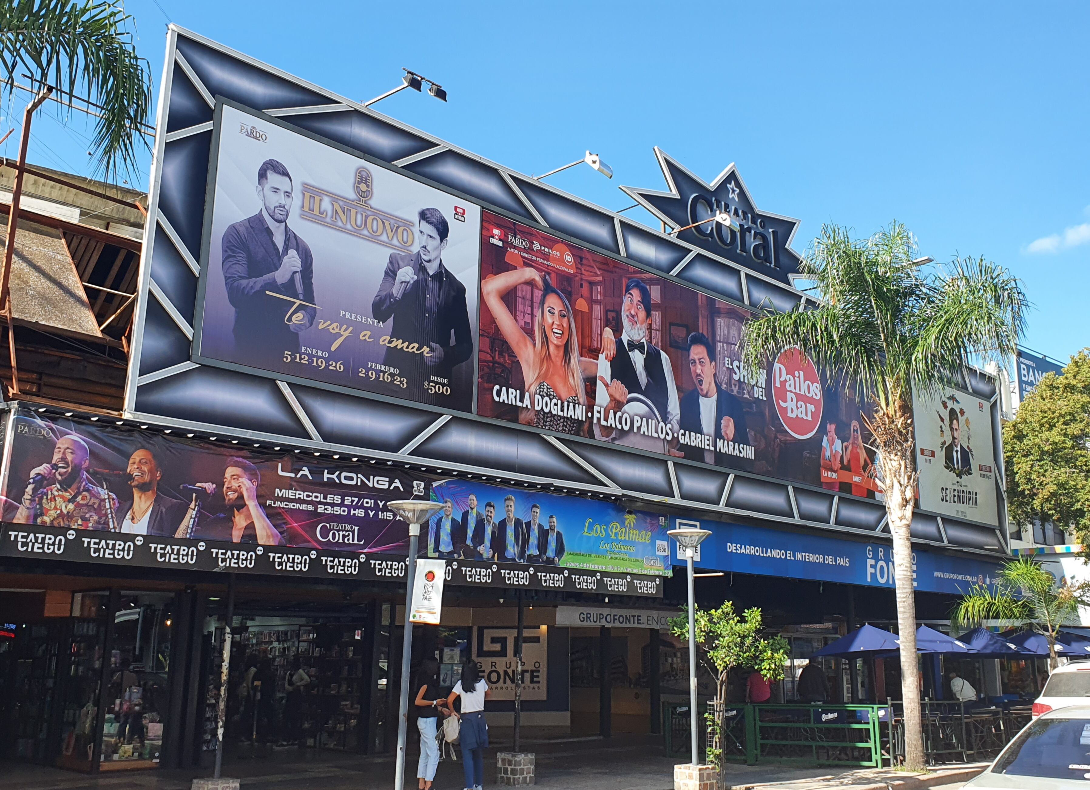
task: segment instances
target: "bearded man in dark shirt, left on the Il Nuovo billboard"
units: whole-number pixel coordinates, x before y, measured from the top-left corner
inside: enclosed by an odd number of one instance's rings
[[[299,333],[314,323],[314,258],[288,227],[292,180],[266,159],[257,168],[262,208],[223,232],[223,284],[234,307],[239,361],[279,370],[283,354],[299,351]]]

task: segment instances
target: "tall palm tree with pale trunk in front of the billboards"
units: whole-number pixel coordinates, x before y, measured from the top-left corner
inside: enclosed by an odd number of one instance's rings
[[[765,310],[744,335],[751,369],[798,346],[829,381],[855,383],[861,399],[874,407],[868,422],[882,456],[893,536],[910,769],[924,765],[919,689],[911,671],[918,660],[909,531],[917,481],[912,394],[958,384],[971,360],[1008,357],[1027,308],[1020,283],[994,263],[930,263],[918,258],[916,239],[904,225],[894,223],[869,239],[825,226],[801,268],[821,304],[786,313]]]

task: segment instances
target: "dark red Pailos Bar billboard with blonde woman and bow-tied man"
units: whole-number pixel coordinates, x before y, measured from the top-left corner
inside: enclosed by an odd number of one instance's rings
[[[481,416],[881,498],[855,388],[795,347],[748,372],[748,310],[486,211],[481,277]]]

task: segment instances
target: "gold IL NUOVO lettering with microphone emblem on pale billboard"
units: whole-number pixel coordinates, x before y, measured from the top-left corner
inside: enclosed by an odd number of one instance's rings
[[[416,227],[412,219],[389,214],[371,205],[375,182],[371,170],[359,167],[352,178],[354,198],[304,183],[300,216],[303,219],[336,228],[361,239],[383,244],[400,252],[412,252]]]

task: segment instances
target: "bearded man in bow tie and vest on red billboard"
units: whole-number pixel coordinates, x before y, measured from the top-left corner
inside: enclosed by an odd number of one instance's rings
[[[629,444],[635,434],[617,431],[608,424],[609,417],[625,408],[629,395],[644,396],[655,407],[658,419],[678,432],[680,408],[669,357],[651,345],[651,289],[632,277],[625,284],[621,306],[623,335],[617,343],[613,359],[598,357],[598,387],[595,406],[603,409],[603,419],[594,424],[594,434],[606,442]]]

